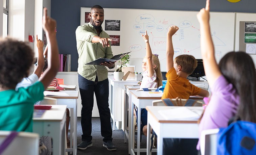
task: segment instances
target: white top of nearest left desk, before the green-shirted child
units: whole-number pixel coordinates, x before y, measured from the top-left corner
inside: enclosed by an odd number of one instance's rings
[[[50,110],[45,110],[40,118],[33,118],[33,121],[62,121],[66,115],[67,105],[50,105]]]

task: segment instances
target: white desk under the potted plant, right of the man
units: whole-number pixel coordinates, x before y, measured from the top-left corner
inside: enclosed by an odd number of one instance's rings
[[[115,130],[115,123],[118,129],[121,128],[121,121],[122,121],[122,89],[125,88],[124,85],[135,85],[139,81],[135,80],[114,80],[113,78],[109,78],[111,88],[110,88],[110,115],[113,120],[113,130]]]

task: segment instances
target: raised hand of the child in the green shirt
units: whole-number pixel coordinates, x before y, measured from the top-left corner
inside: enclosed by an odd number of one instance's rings
[[[44,15],[43,15],[43,29],[48,34],[54,34],[56,28],[56,21],[49,16],[47,16],[47,8],[44,8]],[[55,35],[55,34],[54,34]]]

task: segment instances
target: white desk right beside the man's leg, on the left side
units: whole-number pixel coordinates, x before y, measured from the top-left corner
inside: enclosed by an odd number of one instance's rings
[[[70,108],[70,149],[66,152],[73,152],[76,155],[76,127],[77,127],[77,99],[78,91],[60,91],[65,92],[69,96],[47,96],[57,99],[57,105],[67,105]],[[73,146],[72,146],[73,143]]]

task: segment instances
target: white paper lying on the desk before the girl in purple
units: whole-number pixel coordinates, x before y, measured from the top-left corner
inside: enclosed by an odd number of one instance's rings
[[[202,110],[190,110],[186,107],[178,107],[173,109],[159,110],[162,117],[166,120],[198,120]]]

